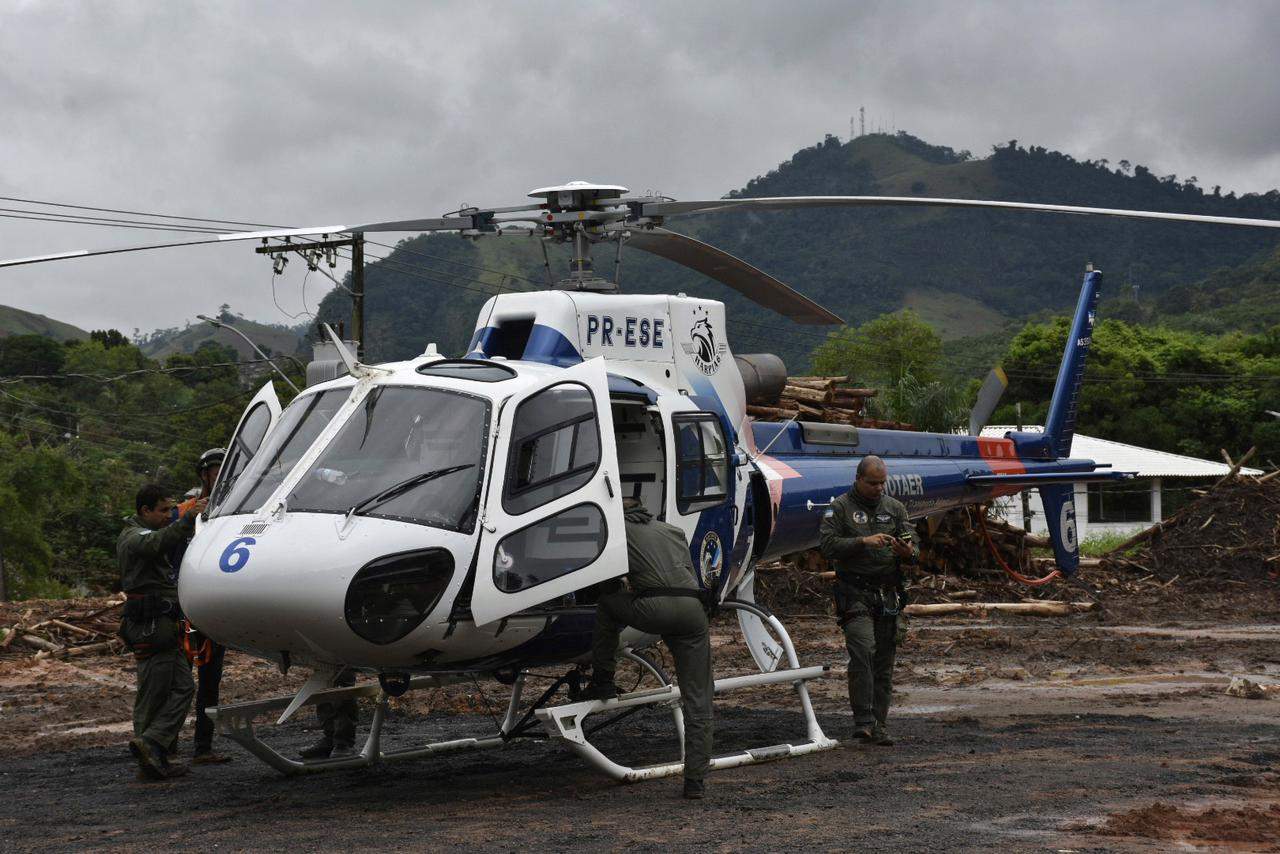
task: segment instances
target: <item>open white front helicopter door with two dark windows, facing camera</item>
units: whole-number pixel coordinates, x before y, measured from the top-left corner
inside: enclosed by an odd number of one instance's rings
[[[498,415],[471,615],[484,625],[626,571],[609,383],[593,359]]]

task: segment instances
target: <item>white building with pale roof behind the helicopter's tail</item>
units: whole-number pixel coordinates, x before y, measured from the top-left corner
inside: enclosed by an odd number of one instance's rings
[[[1005,433],[1016,430],[1014,426],[983,428],[982,435],[1002,438]],[[1041,426],[1023,428],[1039,431]],[[1203,488],[1228,472],[1224,462],[1184,457],[1166,451],[1139,448],[1134,444],[1096,439],[1092,435],[1075,434],[1071,440],[1073,457],[1110,463],[1112,471],[1135,471],[1133,480],[1117,484],[1075,484],[1075,525],[1079,538],[1089,539],[1106,534],[1132,534],[1153,522],[1167,519],[1169,515],[1189,498],[1193,488]],[[1240,469],[1240,474],[1262,474],[1257,469]],[[1027,490],[1032,515],[1032,530],[1043,533],[1044,511],[1039,493]],[[996,499],[996,512],[1014,525],[1023,524],[1023,499],[1020,494]]]

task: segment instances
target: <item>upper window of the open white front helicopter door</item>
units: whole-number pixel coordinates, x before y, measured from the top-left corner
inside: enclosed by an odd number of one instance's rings
[[[585,385],[561,383],[516,410],[502,508],[526,513],[586,484],[600,465],[595,399]]]

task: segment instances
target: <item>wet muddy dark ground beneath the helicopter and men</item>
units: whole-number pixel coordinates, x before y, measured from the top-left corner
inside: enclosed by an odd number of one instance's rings
[[[1239,612],[1266,611],[1257,595],[1248,604]],[[1201,616],[916,620],[899,659],[896,746],[717,772],[701,803],[681,800],[678,780],[617,785],[532,741],[292,780],[221,741],[234,762],[142,784],[124,749],[127,658],[10,656],[0,849],[1280,850],[1280,699],[1225,694],[1233,675],[1280,681],[1280,625]],[[827,618],[788,624],[803,663],[842,666]],[[718,621],[716,641],[721,673],[748,668],[732,621]],[[232,654],[224,697],[285,693],[302,677]],[[389,746],[485,734],[500,691],[483,682],[398,702]],[[844,737],[844,680],[814,682],[813,695]],[[717,750],[801,737],[792,697],[724,695]],[[273,743],[308,743],[310,720]],[[658,711],[600,744],[628,762],[675,752]]]

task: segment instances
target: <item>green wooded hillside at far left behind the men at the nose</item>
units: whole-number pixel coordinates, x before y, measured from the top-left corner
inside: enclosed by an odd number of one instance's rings
[[[0,560],[9,597],[114,589],[115,538],[133,494],[197,483],[265,379],[261,364],[205,343],[147,359],[119,332],[59,343],[0,338]],[[278,385],[282,399],[289,389]]]

